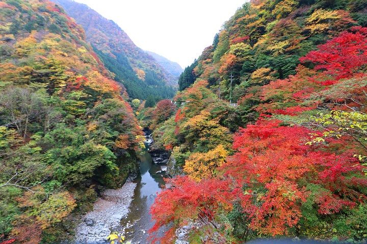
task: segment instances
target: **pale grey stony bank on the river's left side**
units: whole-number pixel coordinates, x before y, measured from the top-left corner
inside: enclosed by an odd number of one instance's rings
[[[93,206],[93,211],[83,217],[76,227],[76,243],[107,243],[111,230],[126,218],[133,200],[136,183],[127,182],[122,188],[109,189],[102,193]]]

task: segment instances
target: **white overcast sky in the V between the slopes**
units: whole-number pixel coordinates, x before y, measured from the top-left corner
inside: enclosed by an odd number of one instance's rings
[[[144,50],[190,65],[247,0],[76,0],[115,21]]]

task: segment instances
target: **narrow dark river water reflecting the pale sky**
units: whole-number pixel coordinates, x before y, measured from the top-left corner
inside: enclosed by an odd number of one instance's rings
[[[130,212],[127,219],[121,221],[122,228],[125,229],[126,239],[132,243],[150,243],[148,240],[148,230],[153,226],[149,214],[150,206],[153,204],[156,194],[164,186],[163,175],[156,174],[161,170],[160,165],[155,165],[149,153],[140,156],[140,176],[135,180],[137,187]]]

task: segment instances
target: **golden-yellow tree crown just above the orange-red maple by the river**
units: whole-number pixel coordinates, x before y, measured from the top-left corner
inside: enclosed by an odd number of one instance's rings
[[[186,161],[183,170],[193,179],[210,178],[215,175],[216,169],[225,163],[228,151],[223,145],[218,145],[215,149],[207,153],[194,153]]]

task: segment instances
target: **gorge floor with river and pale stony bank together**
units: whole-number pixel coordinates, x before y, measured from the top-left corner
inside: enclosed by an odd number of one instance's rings
[[[130,175],[119,189],[107,189],[94,202],[93,210],[82,216],[75,228],[76,243],[108,243],[117,232],[132,243],[149,243],[152,226],[149,208],[164,187],[169,151],[150,149],[153,139],[145,132],[147,149],[139,155],[139,173]]]

